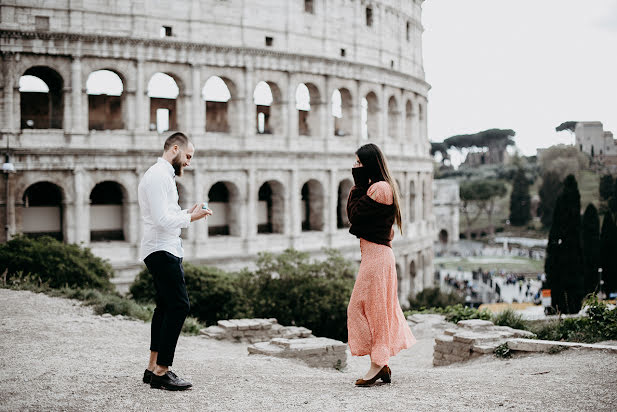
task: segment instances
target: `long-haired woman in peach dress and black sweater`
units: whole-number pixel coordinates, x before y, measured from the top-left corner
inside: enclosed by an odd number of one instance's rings
[[[390,382],[390,356],[416,340],[397,296],[392,225],[403,233],[398,188],[379,147],[358,149],[352,174],[347,216],[349,232],[360,238],[362,262],[347,307],[347,331],[351,354],[371,356],[370,369],[356,385],[371,386],[379,379]]]

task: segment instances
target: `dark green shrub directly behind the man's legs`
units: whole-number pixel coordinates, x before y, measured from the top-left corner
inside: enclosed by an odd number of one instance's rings
[[[190,263],[183,266],[192,316],[211,325],[220,319],[246,317],[250,314],[244,293],[239,287],[242,275]],[[138,302],[154,302],[154,283],[148,269],[137,275],[130,291]]]

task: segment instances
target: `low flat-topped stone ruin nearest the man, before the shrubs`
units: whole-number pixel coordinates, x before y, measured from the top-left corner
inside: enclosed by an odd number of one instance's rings
[[[273,338],[314,337],[310,329],[279,325],[275,318],[219,320],[217,326],[209,326],[200,333],[208,338],[246,343],[267,342]]]

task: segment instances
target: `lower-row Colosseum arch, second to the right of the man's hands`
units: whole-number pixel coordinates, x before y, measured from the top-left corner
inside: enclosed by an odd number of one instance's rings
[[[268,180],[257,193],[257,233],[284,232],[285,187],[277,180]]]

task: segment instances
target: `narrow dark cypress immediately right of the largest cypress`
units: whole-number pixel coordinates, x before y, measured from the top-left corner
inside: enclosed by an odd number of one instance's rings
[[[588,294],[598,291],[598,267],[600,266],[600,217],[593,203],[587,205],[583,214],[582,241],[585,294]]]

